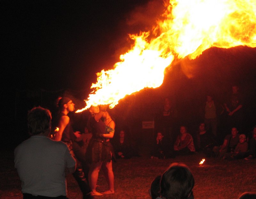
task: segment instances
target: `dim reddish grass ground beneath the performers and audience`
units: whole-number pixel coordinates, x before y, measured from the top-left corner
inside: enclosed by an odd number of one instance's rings
[[[115,174],[115,194],[96,197],[99,199],[149,199],[151,181],[165,171],[173,162],[183,162],[190,168],[195,178],[194,196],[196,199],[236,199],[246,191],[256,191],[256,159],[218,160],[205,158],[202,153],[179,156],[175,159],[150,159],[147,154],[132,159],[118,159],[113,163]],[[1,151],[0,157],[0,198],[21,199],[20,180],[13,163],[12,151]],[[80,199],[80,192],[72,175],[67,176],[68,198]],[[107,182],[100,172],[99,187],[108,189]]]

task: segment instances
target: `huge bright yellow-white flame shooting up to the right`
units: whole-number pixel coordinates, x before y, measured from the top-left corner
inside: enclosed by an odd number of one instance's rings
[[[162,85],[174,58],[195,59],[211,47],[256,47],[255,0],[171,0],[150,32],[130,35],[134,45],[113,70],[97,73],[86,107],[110,104],[146,87]],[[157,36],[158,35],[158,36]]]

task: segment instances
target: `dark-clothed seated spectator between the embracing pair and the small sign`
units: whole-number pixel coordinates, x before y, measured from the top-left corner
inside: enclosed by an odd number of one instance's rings
[[[134,147],[132,146],[128,136],[124,130],[119,132],[119,138],[113,142],[116,158],[130,159],[135,155]]]

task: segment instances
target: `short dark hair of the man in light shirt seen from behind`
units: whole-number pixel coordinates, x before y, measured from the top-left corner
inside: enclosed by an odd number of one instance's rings
[[[28,132],[30,135],[44,133],[51,128],[52,114],[42,107],[34,107],[28,112]],[[50,132],[50,131],[49,131]]]

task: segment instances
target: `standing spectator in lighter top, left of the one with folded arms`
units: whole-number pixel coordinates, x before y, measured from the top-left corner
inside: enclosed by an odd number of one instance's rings
[[[211,129],[212,134],[217,137],[217,114],[212,95],[207,95],[204,111],[204,123],[206,125],[206,130],[209,131]]]

